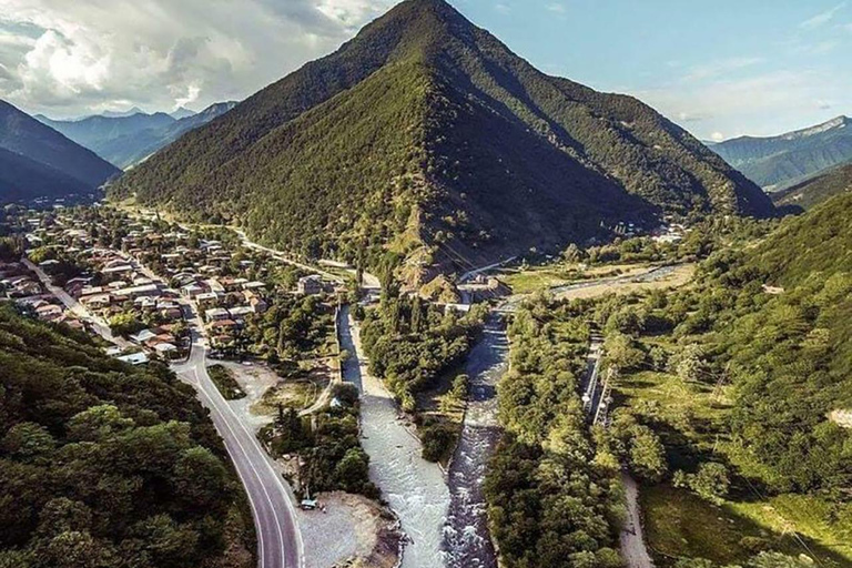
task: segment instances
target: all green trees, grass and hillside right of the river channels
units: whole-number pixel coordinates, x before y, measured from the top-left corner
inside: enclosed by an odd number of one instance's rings
[[[507,566],[606,565],[621,466],[642,483],[659,566],[852,561],[852,442],[832,418],[852,407],[852,264],[838,254],[850,213],[844,195],[757,243],[711,247],[679,291],[540,296],[518,313],[488,479]],[[589,318],[619,371],[611,425],[590,435],[577,393]]]

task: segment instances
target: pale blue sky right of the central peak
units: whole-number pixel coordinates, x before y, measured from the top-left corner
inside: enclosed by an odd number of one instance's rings
[[[635,94],[702,139],[852,114],[852,2],[454,3],[539,69]]]

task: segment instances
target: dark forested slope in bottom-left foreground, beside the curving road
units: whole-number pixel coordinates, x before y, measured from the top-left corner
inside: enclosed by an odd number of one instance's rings
[[[248,568],[251,523],[191,387],[0,306],[0,566]]]

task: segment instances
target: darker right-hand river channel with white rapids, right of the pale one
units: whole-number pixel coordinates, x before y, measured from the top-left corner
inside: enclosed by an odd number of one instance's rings
[[[483,484],[488,459],[500,438],[496,389],[508,369],[508,355],[505,322],[493,314],[466,365],[470,395],[462,437],[449,465],[450,503],[444,527],[449,568],[497,568]]]

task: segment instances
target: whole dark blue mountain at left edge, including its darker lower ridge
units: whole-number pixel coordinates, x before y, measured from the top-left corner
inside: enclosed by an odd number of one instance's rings
[[[0,202],[90,192],[118,175],[105,162],[0,101]]]

